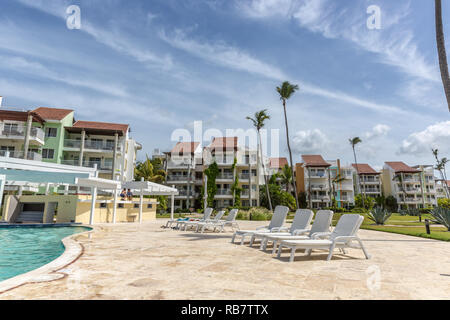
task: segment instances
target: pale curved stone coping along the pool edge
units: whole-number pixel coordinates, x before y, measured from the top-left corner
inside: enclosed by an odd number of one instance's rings
[[[55,260],[27,273],[19,274],[13,278],[0,282],[0,296],[8,291],[21,287],[29,283],[43,283],[63,279],[67,274],[60,270],[76,262],[84,253],[84,247],[76,238],[81,235],[92,234],[99,229],[98,226],[77,225],[76,227],[90,228],[85,232],[67,236],[61,240],[64,245],[64,252]]]

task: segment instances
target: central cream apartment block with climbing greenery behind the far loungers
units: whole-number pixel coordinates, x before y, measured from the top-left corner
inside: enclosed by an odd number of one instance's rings
[[[241,205],[259,206],[259,185],[264,183],[264,176],[257,151],[239,146],[237,137],[214,138],[204,148],[199,142],[179,142],[166,157],[166,184],[175,186],[180,192],[175,198],[175,208],[201,206],[198,201],[203,201],[204,171],[214,162],[219,167],[214,198],[216,208],[234,205],[232,185],[236,178],[242,189]]]

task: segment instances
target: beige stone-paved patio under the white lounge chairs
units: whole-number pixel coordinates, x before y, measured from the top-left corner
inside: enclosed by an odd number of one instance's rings
[[[165,221],[98,226],[78,236],[84,254],[66,277],[0,299],[450,299],[449,242],[361,230],[371,260],[349,249],[330,262],[298,252],[288,263],[287,253],[231,244],[230,232],[161,229]]]

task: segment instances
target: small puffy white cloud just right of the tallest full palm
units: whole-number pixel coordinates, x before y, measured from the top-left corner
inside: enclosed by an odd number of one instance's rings
[[[297,131],[292,138],[292,151],[297,154],[326,153],[329,140],[319,129]]]

